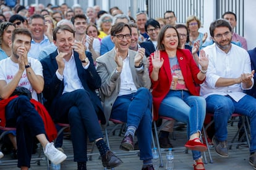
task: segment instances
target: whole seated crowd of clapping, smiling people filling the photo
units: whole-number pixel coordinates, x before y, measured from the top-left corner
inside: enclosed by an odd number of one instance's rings
[[[200,137],[207,113],[215,122],[210,140],[223,157],[231,115],[250,119],[249,163],[256,168],[256,50],[247,52],[246,40],[234,32],[236,14],[214,20],[210,38],[198,31],[197,16],[179,24],[174,11],[163,16],[138,12],[132,18],[118,7],[99,6],[84,12],[79,4],[65,3],[1,5],[0,126],[17,129],[7,137],[20,169],[30,168],[35,139],[51,162],[66,159],[62,136],[52,143],[54,123],[70,124],[77,169],[87,169],[87,137],[105,168],[119,166],[122,160],[101,132],[109,118],[127,125],[120,148],[134,150],[137,143],[142,169],[154,169],[151,125],[159,116],[187,124],[184,146],[192,150],[194,170],[205,169],[201,152],[207,145]],[[31,96],[17,95],[18,87]],[[43,94],[43,104],[37,94]],[[173,147],[173,125],[168,121],[160,132],[162,148]]]

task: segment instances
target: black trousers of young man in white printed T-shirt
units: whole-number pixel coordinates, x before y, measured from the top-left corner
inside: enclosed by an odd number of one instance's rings
[[[38,134],[45,134],[45,125],[28,97],[20,95],[6,106],[6,126],[16,127],[18,167],[30,168],[33,140]]]

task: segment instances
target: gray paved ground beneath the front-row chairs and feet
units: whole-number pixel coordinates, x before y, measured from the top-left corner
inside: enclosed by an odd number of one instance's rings
[[[113,126],[111,124],[110,126]],[[236,124],[234,124],[233,127],[228,127],[229,137],[228,140],[231,140],[231,138],[234,136],[234,133],[237,130]],[[186,129],[183,131],[175,131],[176,134],[176,140],[171,139],[171,143],[174,145],[174,169],[181,169],[181,170],[192,170],[193,169],[193,160],[192,160],[192,153],[185,153],[185,149],[181,148],[186,143]],[[171,138],[171,137],[170,137]],[[139,160],[139,156],[137,153],[132,153],[131,155],[122,155],[122,150],[119,150],[119,145],[122,140],[122,137],[119,136],[111,136],[109,137],[109,141],[111,144],[111,150],[116,152],[116,155],[121,158],[121,160],[124,162],[119,167],[115,168],[116,170],[122,170],[122,169],[141,169],[142,168],[142,161]],[[88,146],[89,148],[90,146]],[[72,144],[70,140],[64,139],[64,145],[62,147],[67,153],[67,155],[72,155]],[[165,155],[166,150],[162,151],[162,157],[163,162],[165,163]],[[95,155],[92,156],[92,161],[87,162],[87,169],[103,169],[103,166],[101,164],[101,160],[99,160],[98,150],[95,148]],[[247,169],[253,169],[252,166],[248,163],[249,161],[249,148],[247,146],[241,146],[239,148],[236,148],[235,146],[229,150],[229,157],[228,158],[222,158],[218,156],[215,153],[214,148],[211,148],[211,155],[213,156],[213,163],[205,164],[205,168],[207,170],[216,170],[216,169],[223,169],[223,170],[247,170]],[[33,155],[35,157],[36,155]],[[208,154],[207,154],[208,156]],[[72,156],[68,156],[68,160],[64,161],[61,164],[62,170],[74,170],[77,169],[77,164],[74,163],[72,160]],[[11,166],[4,166],[3,163],[6,160],[9,160],[10,156],[5,155],[4,158],[0,160],[0,169],[12,169],[16,170],[17,163],[11,165]],[[47,169],[46,161],[40,161],[40,165],[32,164],[32,167],[30,169],[32,170],[41,170],[41,169]],[[160,170],[164,168],[159,168]]]

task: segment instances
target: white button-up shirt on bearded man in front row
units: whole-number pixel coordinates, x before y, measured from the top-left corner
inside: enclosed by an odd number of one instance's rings
[[[242,83],[226,87],[216,87],[215,85],[219,78],[239,78],[242,73],[251,73],[248,52],[231,44],[231,49],[226,54],[215,43],[205,47],[203,51],[208,55],[209,65],[205,82],[201,84],[200,95],[205,98],[211,94],[229,95],[238,102],[245,95]],[[253,78],[252,81],[253,86]],[[248,89],[251,89],[252,86]]]

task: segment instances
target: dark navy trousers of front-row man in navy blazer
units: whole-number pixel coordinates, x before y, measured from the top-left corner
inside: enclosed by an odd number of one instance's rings
[[[90,142],[103,138],[89,93],[84,89],[67,92],[57,103],[55,111],[62,115],[60,122],[70,124],[74,161],[87,161],[87,135]]]

